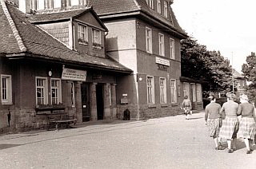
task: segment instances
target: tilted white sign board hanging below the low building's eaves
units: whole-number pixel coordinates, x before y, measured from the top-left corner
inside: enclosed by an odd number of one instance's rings
[[[62,80],[86,81],[86,71],[64,68],[62,71]]]

